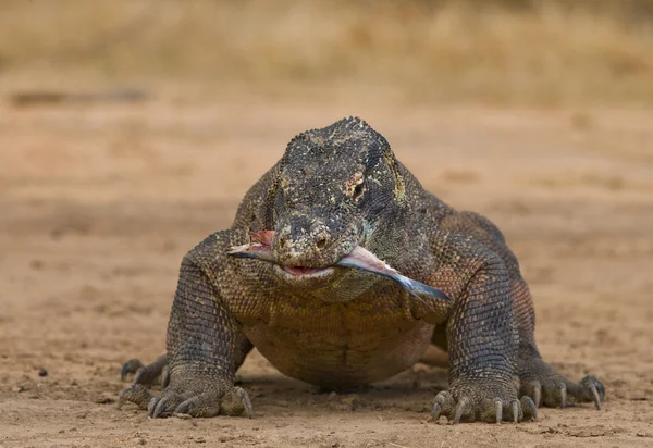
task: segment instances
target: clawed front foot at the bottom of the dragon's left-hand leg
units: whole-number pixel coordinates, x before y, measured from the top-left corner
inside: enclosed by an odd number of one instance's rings
[[[175,413],[190,414],[193,416],[243,415],[251,418],[251,401],[247,393],[241,387],[208,383],[206,381],[188,383],[192,387],[184,387],[172,381],[159,396],[150,398],[147,410],[151,418],[164,418]]]

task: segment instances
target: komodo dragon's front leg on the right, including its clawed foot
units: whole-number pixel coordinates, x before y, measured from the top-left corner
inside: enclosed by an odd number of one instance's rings
[[[489,251],[476,257],[473,274],[448,316],[449,390],[438,394],[432,415],[454,423],[534,419],[532,400],[518,398],[519,336],[508,272]]]

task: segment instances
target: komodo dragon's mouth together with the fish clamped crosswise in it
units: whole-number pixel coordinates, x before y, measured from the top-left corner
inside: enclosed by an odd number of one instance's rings
[[[250,258],[261,261],[267,261],[274,264],[274,269],[279,273],[283,273],[286,278],[318,278],[328,277],[335,272],[335,266],[350,267],[360,271],[371,272],[391,278],[398,283],[408,294],[418,300],[422,300],[421,296],[427,296],[432,299],[448,301],[448,297],[439,289],[429,285],[408,278],[397,271],[389,266],[382,260],[379,260],[369,250],[361,246],[356,246],[352,252],[345,254],[333,266],[326,267],[306,267],[306,266],[288,266],[281,265],[272,253],[272,238],[274,231],[260,231],[249,234],[249,244],[243,246],[234,246],[227,252],[231,257]]]

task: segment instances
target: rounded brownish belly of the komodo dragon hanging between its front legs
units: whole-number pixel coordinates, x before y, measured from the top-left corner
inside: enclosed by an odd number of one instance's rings
[[[434,328],[404,315],[366,315],[347,304],[294,311],[246,325],[245,334],[281,373],[324,387],[366,385],[410,368]]]

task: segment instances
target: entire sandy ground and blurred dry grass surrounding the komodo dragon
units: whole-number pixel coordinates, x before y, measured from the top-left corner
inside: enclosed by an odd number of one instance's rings
[[[0,0],[0,446],[645,446],[652,107],[653,0]],[[256,351],[257,419],[106,406],[164,350],[184,254],[347,115],[500,226],[540,351],[605,411],[452,432],[422,424],[442,369],[329,396]]]

